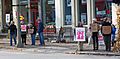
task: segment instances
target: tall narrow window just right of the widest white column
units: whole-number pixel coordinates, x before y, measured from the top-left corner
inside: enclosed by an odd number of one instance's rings
[[[71,0],[65,0],[65,20],[64,25],[72,25]]]

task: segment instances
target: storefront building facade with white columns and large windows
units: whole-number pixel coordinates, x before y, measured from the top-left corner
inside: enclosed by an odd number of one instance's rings
[[[18,6],[14,5],[17,0],[9,0],[10,3],[6,2],[8,0],[0,1],[0,24],[3,28],[3,24],[6,24],[6,14],[12,15],[11,19],[16,21]],[[112,16],[111,3],[112,0],[20,0],[22,4],[20,14],[25,17],[25,22],[31,21],[36,25],[37,18],[41,16],[45,25],[50,23],[57,28],[61,26],[74,28],[79,22],[88,27],[93,18],[100,20],[106,14]]]

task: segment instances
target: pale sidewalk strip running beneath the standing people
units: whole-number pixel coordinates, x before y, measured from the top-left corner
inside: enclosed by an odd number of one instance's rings
[[[24,52],[24,53],[41,53],[41,54],[86,54],[86,55],[105,55],[105,56],[120,56],[120,53],[106,52],[105,46],[99,46],[98,51],[92,50],[92,45],[84,44],[83,51],[76,51],[76,43],[51,43],[46,41],[46,46],[39,46],[39,41],[36,41],[35,46],[28,45],[24,48],[16,48],[9,46],[9,39],[0,39],[0,51],[5,52]]]

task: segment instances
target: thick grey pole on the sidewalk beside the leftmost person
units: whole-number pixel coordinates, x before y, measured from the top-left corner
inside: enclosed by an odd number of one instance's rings
[[[21,40],[21,30],[20,30],[20,18],[19,18],[19,16],[20,16],[20,0],[18,0],[18,9],[17,9],[17,11],[18,11],[18,16],[17,16],[17,39],[18,39],[18,45],[17,45],[17,47],[18,48],[23,48],[24,47],[24,45],[23,45],[23,43],[22,43],[22,40]]]

